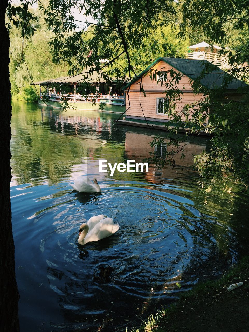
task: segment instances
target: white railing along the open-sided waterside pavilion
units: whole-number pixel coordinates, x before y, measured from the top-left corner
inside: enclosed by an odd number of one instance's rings
[[[62,101],[67,100],[69,102],[85,102],[85,103],[105,103],[105,104],[115,104],[115,105],[125,105],[125,97],[124,96],[108,96],[108,95],[58,95],[55,93],[44,93],[40,96],[46,96],[50,101]]]

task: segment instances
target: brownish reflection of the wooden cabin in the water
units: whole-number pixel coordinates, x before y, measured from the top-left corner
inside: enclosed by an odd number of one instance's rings
[[[166,144],[161,144],[157,148],[151,148],[149,142],[151,142],[153,136],[150,134],[141,134],[139,132],[126,131],[125,133],[125,154],[126,158],[135,160],[135,162],[142,162],[144,158],[150,157],[151,152],[156,152],[158,157],[164,155]],[[169,138],[165,138],[164,142],[169,142]],[[163,169],[158,169],[155,165],[150,165],[149,172],[144,173],[145,180],[149,182],[160,182],[161,178],[166,179],[187,179],[191,176],[198,176],[193,171],[194,155],[200,154],[206,150],[207,138],[194,137],[189,138],[188,141],[182,141],[181,146],[184,146],[185,158],[181,158],[181,153],[177,153],[174,156],[176,166],[165,166]]]

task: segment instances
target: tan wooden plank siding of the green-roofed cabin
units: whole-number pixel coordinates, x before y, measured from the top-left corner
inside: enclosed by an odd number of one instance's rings
[[[179,73],[178,70],[167,64],[166,62],[160,61],[158,62],[153,68],[153,70],[171,70],[174,69],[177,73]],[[161,115],[156,114],[156,98],[158,97],[165,97],[165,87],[160,86],[159,84],[156,84],[156,81],[152,81],[150,78],[150,74],[147,73],[142,77],[142,86],[144,91],[146,92],[146,97],[142,93],[139,94],[140,90],[140,79],[131,84],[130,90],[129,90],[129,100],[130,100],[130,108],[129,108],[129,102],[127,98],[127,90],[125,90],[126,93],[126,116],[137,116],[137,117],[148,117],[148,118],[154,118],[154,119],[169,119],[168,115]],[[181,111],[184,107],[184,105],[193,103],[198,100],[202,100],[204,97],[203,95],[194,95],[193,92],[191,92],[191,84],[190,84],[190,78],[188,76],[184,76],[179,85],[179,89],[185,88],[185,92],[182,96],[182,100],[178,101],[176,104],[176,109]],[[140,105],[141,104],[141,105]],[[183,119],[184,120],[184,119]]]

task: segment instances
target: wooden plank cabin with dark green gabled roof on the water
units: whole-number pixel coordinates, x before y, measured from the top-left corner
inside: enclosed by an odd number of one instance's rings
[[[146,127],[149,124],[153,128],[167,129],[165,122],[169,120],[169,117],[168,110],[165,108],[168,103],[167,98],[165,98],[165,86],[164,84],[161,86],[161,84],[157,84],[156,80],[152,80],[151,73],[156,70],[163,72],[173,69],[175,72],[183,74],[178,85],[178,89],[183,92],[183,95],[181,100],[176,102],[176,109],[181,111],[184,105],[192,104],[204,98],[202,94],[194,94],[191,80],[195,80],[200,76],[205,61],[168,57],[158,58],[138,75],[136,80],[124,87],[126,113],[125,118],[120,120],[119,123]],[[201,84],[209,89],[218,88],[222,84],[224,75],[227,74],[217,67],[217,70],[207,73],[202,78]],[[140,92],[141,85],[146,96]],[[242,95],[237,93],[237,88],[241,86],[246,86],[246,84],[234,78],[226,90],[228,98],[240,99]]]

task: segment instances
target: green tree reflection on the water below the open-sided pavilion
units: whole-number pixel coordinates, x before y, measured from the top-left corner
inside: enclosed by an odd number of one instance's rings
[[[113,121],[110,115],[107,114],[107,120],[99,122],[96,113],[93,119],[90,118],[92,114],[89,118],[70,117],[50,109],[29,110],[25,103],[14,103],[11,148],[16,181],[23,184],[39,179],[49,184],[58,183],[71,173],[73,165],[81,164],[82,157],[87,157],[89,146],[94,150],[100,146],[102,154],[105,150],[111,150],[117,129],[111,129]],[[116,139],[120,142],[124,140],[122,132],[116,135]],[[106,147],[102,144],[103,140],[108,141]]]

